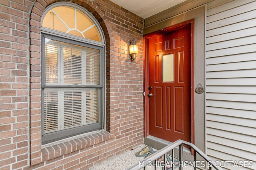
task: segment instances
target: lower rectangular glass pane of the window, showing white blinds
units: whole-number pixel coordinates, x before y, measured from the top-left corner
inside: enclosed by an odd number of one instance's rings
[[[44,89],[44,133],[97,122],[97,88]]]

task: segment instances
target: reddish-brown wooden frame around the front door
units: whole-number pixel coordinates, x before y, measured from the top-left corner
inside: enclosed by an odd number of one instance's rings
[[[148,94],[149,94],[149,61],[148,61],[148,39],[155,37],[160,34],[169,33],[172,31],[176,31],[178,29],[182,29],[183,27],[186,27],[190,25],[191,30],[191,70],[190,70],[190,77],[191,77],[191,143],[195,144],[195,121],[194,121],[194,19],[184,21],[181,23],[178,23],[176,25],[172,25],[170,27],[161,29],[159,31],[150,33],[148,35],[144,35],[143,37],[143,47],[144,47],[144,137],[147,137],[149,135],[149,100],[148,100]]]

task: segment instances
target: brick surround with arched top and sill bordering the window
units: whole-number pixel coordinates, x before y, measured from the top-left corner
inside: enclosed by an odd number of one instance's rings
[[[61,0],[37,0],[34,3],[32,12],[30,14],[30,159],[31,165],[42,164],[41,162],[51,160],[69,154],[71,152],[79,151],[86,147],[96,145],[114,137],[114,121],[110,117],[110,109],[106,107],[106,130],[107,132],[98,133],[96,135],[89,135],[63,144],[53,145],[46,148],[41,148],[41,53],[40,53],[40,22],[45,8]],[[66,2],[66,1],[65,1]],[[72,0],[70,3],[77,4],[93,14],[96,20],[100,23],[106,41],[106,70],[111,71],[110,58],[114,54],[114,50],[110,47],[114,44],[114,36],[112,27],[104,11],[100,10],[96,2],[90,0]],[[106,74],[106,80],[110,80]],[[110,90],[106,87],[106,98]],[[106,102],[108,105],[110,102]],[[112,125],[112,126],[111,126]]]

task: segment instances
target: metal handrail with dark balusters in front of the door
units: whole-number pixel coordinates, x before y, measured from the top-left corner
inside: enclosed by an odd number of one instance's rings
[[[204,152],[202,152],[200,149],[198,149],[198,147],[196,147],[194,144],[183,141],[183,140],[177,140],[174,143],[164,147],[161,150],[158,150],[157,152],[155,152],[154,154],[148,156],[147,158],[145,158],[144,160],[138,162],[137,164],[134,164],[133,166],[130,166],[129,168],[127,168],[126,170],[140,170],[142,168],[144,168],[144,170],[146,170],[146,166],[148,166],[148,163],[150,162],[150,164],[155,165],[154,168],[156,170],[157,165],[159,165],[159,163],[157,163],[157,159],[160,158],[161,156],[164,155],[164,166],[160,165],[162,168],[164,168],[164,170],[166,170],[166,165],[167,165],[167,152],[172,151],[172,162],[170,165],[171,166],[171,170],[174,170],[175,167],[175,161],[174,161],[174,148],[179,147],[179,170],[183,170],[183,145],[189,146],[192,149],[194,149],[194,162],[196,162],[196,157],[197,154],[199,154],[200,156],[202,156],[202,158],[204,158],[204,160],[206,160],[207,165],[205,165],[205,168],[209,170],[212,170],[212,168],[215,168],[216,170],[222,170],[222,168],[220,168],[219,166],[216,166],[215,162],[213,160],[211,160],[206,154],[204,154]],[[181,163],[180,163],[181,162]],[[196,164],[194,164],[196,165]],[[197,166],[194,166],[194,170],[197,169]]]

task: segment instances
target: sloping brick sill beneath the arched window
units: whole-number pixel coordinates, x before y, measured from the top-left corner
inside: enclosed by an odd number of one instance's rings
[[[77,150],[84,149],[98,143],[102,143],[108,139],[110,139],[110,133],[103,131],[63,143],[54,144],[52,146],[47,146],[41,149],[42,162],[51,160],[53,158],[58,158],[59,156],[69,154],[71,152],[75,152]]]

